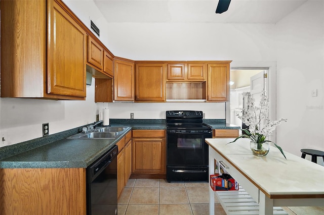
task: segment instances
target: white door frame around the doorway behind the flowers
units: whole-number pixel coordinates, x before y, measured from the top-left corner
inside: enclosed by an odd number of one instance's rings
[[[264,64],[264,65],[262,65]],[[276,120],[276,64],[275,62],[261,63],[253,67],[247,65],[233,65],[230,70],[267,70],[268,71],[268,98],[270,100],[269,117],[271,120]],[[226,123],[230,123],[230,101],[225,102]],[[272,142],[276,142],[276,130],[268,138]]]

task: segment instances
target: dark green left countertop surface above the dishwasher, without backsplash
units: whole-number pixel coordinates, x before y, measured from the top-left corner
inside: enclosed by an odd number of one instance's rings
[[[125,134],[131,128],[125,130]],[[0,160],[0,168],[87,168],[114,146],[116,139],[61,139]]]

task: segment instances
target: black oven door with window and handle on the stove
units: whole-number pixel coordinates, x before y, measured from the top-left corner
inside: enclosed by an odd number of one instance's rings
[[[208,166],[211,130],[167,130],[167,166]]]

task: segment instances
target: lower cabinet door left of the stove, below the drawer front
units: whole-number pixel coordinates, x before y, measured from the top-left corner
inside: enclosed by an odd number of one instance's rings
[[[165,174],[165,138],[133,138],[133,173]]]

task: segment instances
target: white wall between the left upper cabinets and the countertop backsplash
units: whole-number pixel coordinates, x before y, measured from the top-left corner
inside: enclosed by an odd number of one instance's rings
[[[42,137],[43,123],[49,123],[50,134],[93,123],[94,89],[94,84],[87,85],[85,101],[0,98],[0,133],[5,138],[0,147]]]

